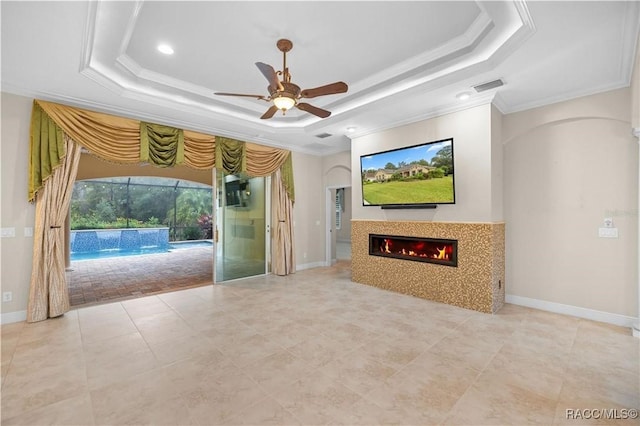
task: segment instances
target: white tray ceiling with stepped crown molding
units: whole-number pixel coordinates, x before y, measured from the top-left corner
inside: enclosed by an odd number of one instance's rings
[[[628,86],[640,27],[635,1],[2,1],[0,13],[4,92],[317,155],[490,101],[510,113]],[[213,94],[267,96],[255,62],[280,70],[280,38],[302,89],[349,85],[308,100],[329,118],[260,120],[266,102]]]

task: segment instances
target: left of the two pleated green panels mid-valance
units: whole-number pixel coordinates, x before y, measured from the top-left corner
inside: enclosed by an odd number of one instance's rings
[[[184,164],[184,131],[140,122],[140,161],[158,167]]]

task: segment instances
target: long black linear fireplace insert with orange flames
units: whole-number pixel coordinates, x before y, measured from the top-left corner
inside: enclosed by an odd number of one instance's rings
[[[458,266],[458,241],[369,234],[369,254]]]

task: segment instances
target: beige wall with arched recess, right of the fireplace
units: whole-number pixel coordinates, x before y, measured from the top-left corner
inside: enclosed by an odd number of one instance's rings
[[[630,95],[620,89],[503,117],[508,296],[637,315]],[[598,237],[605,217],[619,238]]]

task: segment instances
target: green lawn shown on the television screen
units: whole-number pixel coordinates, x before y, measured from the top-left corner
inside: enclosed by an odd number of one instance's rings
[[[452,203],[453,176],[367,183],[362,186],[362,192],[369,204]]]

